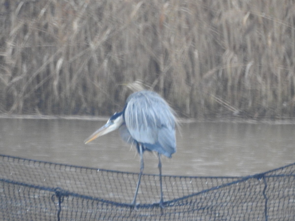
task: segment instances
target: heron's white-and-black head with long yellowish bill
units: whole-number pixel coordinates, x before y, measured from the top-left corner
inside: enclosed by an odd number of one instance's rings
[[[84,143],[87,144],[99,136],[117,130],[122,125],[122,123],[124,123],[123,112],[114,113],[114,115],[109,118],[106,124],[95,131],[91,136],[89,136],[89,138],[87,138]]]

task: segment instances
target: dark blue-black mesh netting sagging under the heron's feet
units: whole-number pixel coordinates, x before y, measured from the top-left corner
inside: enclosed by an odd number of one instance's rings
[[[248,177],[142,175],[0,155],[2,220],[295,220],[295,164]]]

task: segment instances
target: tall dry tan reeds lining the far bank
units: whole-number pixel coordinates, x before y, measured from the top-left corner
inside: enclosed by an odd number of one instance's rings
[[[109,115],[141,80],[180,116],[295,116],[294,0],[0,0],[0,111]]]

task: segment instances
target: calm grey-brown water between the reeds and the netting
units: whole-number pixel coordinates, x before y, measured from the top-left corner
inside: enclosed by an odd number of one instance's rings
[[[139,171],[135,147],[117,131],[83,141],[105,121],[0,118],[0,154],[119,171]],[[163,174],[244,176],[295,162],[295,122],[182,123],[177,152],[162,157]],[[144,154],[144,173],[158,174],[157,155]]]

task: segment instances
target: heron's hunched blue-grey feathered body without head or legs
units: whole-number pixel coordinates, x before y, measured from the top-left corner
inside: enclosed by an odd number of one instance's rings
[[[124,119],[130,136],[144,149],[167,157],[176,152],[176,118],[157,93],[143,90],[131,94],[126,100]]]

